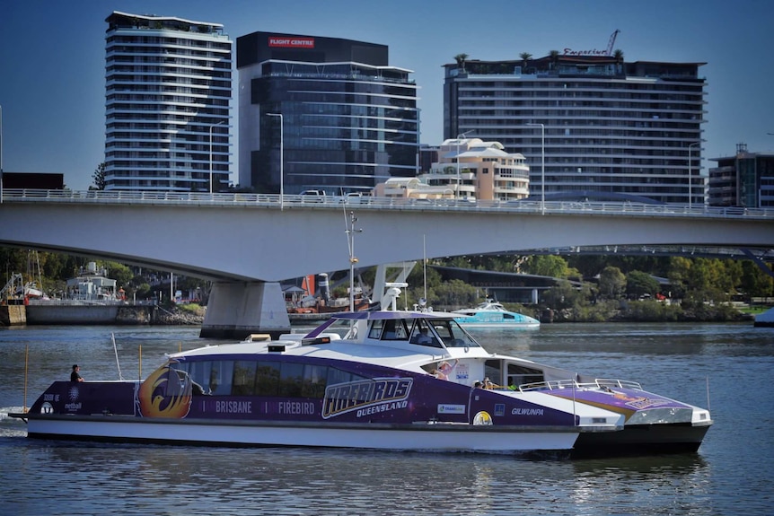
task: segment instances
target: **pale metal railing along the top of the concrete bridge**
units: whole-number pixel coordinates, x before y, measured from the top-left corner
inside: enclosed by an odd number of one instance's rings
[[[688,206],[682,204],[642,204],[631,202],[581,202],[524,199],[512,201],[465,199],[418,199],[406,197],[370,196],[303,196],[250,193],[203,193],[115,190],[47,190],[36,188],[4,188],[0,201],[4,203],[96,203],[96,204],[178,204],[195,206],[264,206],[286,209],[321,207],[347,209],[410,209],[410,210],[470,210],[507,211],[539,214],[641,214],[643,216],[745,217],[774,219],[774,209],[737,206]]]

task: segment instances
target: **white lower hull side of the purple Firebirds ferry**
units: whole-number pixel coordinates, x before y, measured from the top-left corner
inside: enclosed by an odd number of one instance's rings
[[[572,450],[567,427],[470,424],[304,424],[148,419],[117,415],[25,415],[31,438],[231,446],[519,453]],[[609,432],[605,432],[609,433]]]

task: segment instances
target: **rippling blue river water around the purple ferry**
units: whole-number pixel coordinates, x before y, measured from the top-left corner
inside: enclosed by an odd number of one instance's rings
[[[164,353],[217,341],[198,338],[198,328],[190,327],[0,328],[0,511],[774,513],[774,328],[750,323],[555,324],[475,335],[491,352],[638,380],[656,393],[701,407],[709,404],[715,424],[698,453],[638,459],[28,440],[24,424],[8,419],[7,412],[31,405],[51,381],[68,378],[73,363],[81,365],[86,380],[117,379],[119,369],[124,378],[144,377],[163,362]]]

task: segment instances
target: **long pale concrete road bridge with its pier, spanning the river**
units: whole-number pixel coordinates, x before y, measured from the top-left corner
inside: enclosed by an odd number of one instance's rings
[[[567,201],[4,190],[0,245],[215,282],[202,337],[289,328],[279,281],[423,257],[599,245],[774,248],[774,210]],[[356,218],[354,225],[352,217]]]

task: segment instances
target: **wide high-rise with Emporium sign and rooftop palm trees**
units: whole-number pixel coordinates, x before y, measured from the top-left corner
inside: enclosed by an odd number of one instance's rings
[[[478,137],[523,153],[532,195],[631,194],[700,205],[703,63],[614,55],[445,65],[444,137]]]

